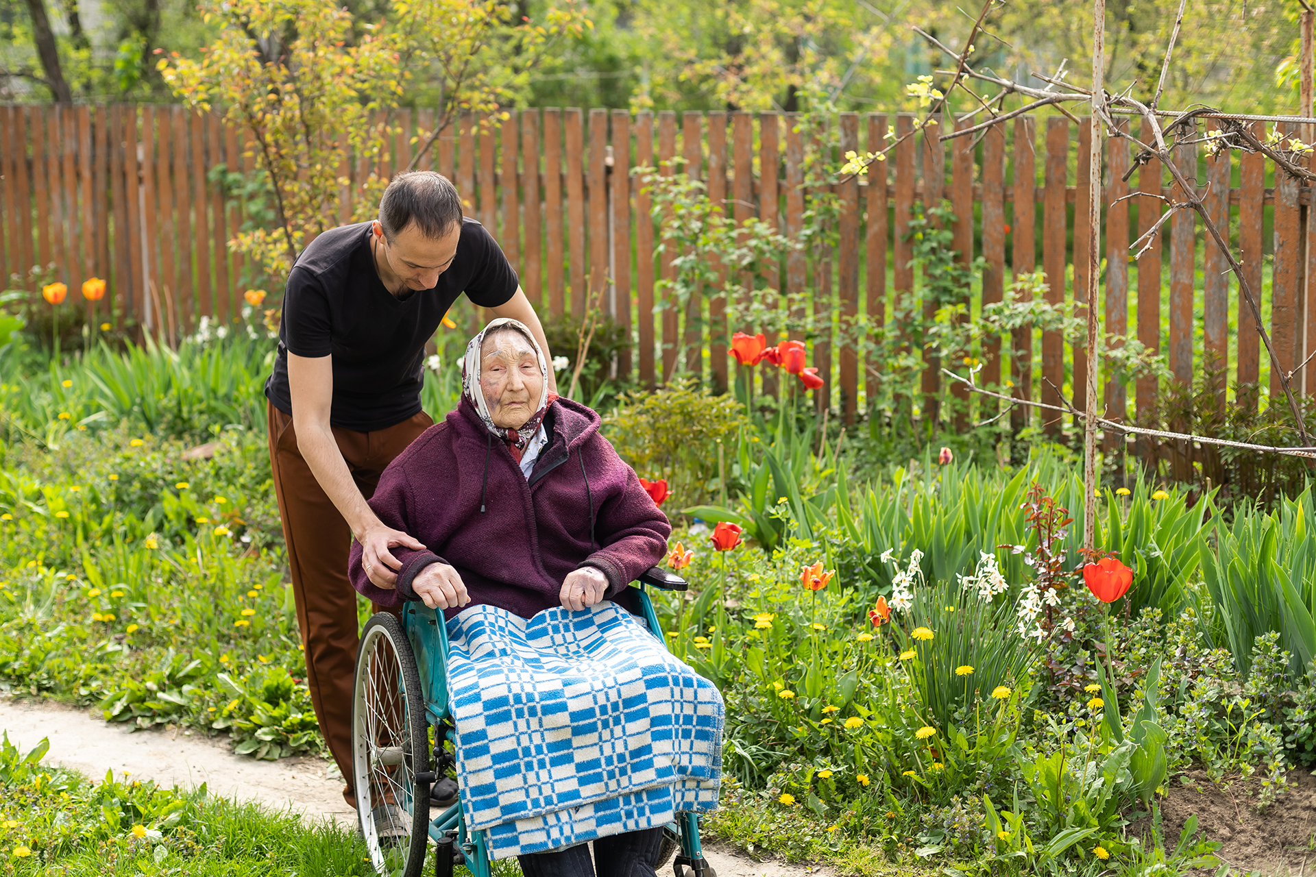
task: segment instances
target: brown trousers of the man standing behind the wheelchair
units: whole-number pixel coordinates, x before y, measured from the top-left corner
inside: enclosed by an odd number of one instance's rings
[[[357,806],[351,767],[351,693],[357,672],[357,592],[347,579],[351,529],[297,450],[292,415],[267,404],[270,468],[279,500],[283,539],[292,567],[292,597],[307,659],[307,685],[320,730],[347,782],[343,798]],[[421,412],[372,433],[333,427],[347,471],[367,500],[379,476],[434,421]],[[372,606],[379,611],[379,606]]]

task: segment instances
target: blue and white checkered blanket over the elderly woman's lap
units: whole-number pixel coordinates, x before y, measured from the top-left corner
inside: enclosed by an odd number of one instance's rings
[[[491,859],[717,806],[721,694],[616,604],[472,606],[447,638],[462,810]]]

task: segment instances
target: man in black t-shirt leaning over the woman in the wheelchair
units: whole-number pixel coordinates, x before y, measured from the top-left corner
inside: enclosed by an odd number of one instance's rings
[[[430,171],[393,178],[378,220],[317,237],[284,289],[278,359],[265,385],[270,465],[307,685],[353,806],[359,631],[347,555],[355,538],[370,581],[390,589],[400,565],[390,548],[425,548],[384,526],[366,500],[384,467],[433,423],[420,405],[425,342],[463,292],[525,323],[547,351],[516,271],[484,226],[462,217],[453,184]]]

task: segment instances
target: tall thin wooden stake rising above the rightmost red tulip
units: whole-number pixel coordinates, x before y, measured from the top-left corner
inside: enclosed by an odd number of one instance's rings
[[[1098,348],[1096,289],[1101,270],[1101,118],[1105,96],[1105,0],[1092,3],[1092,137],[1088,141],[1087,176],[1087,417],[1083,426],[1083,547],[1095,547],[1096,534],[1096,387]]]

